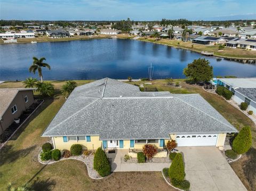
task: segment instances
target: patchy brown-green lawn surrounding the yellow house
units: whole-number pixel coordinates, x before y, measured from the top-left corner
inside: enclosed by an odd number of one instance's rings
[[[75,80],[78,85],[92,80]],[[207,93],[201,86],[187,84],[185,79],[179,81],[181,87],[167,85],[165,80],[154,80],[153,85],[159,91],[171,93],[199,93],[223,117],[238,130],[244,126],[252,128],[253,147],[246,155],[231,164],[238,177],[248,190],[256,189],[254,169],[256,169],[256,127],[255,124],[241,111],[227,103],[222,97]],[[36,190],[174,190],[162,178],[161,172],[120,172],[102,180],[92,180],[87,176],[86,167],[82,162],[67,160],[51,165],[37,162],[37,155],[47,138],[40,137],[43,130],[51,122],[65,99],[60,95],[60,87],[65,81],[51,81],[55,86],[53,98],[46,98],[42,107],[36,111],[31,119],[15,134],[9,143],[0,151],[0,190],[4,190],[7,183],[16,184],[30,181]],[[140,82],[128,82],[141,84]],[[22,82],[4,82],[0,88],[23,87]],[[47,190],[47,189],[45,189]]]

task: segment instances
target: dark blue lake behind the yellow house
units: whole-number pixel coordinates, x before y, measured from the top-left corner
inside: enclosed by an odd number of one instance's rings
[[[185,78],[183,68],[201,54],[165,45],[130,39],[92,39],[49,43],[0,45],[0,80],[38,78],[29,73],[32,57],[45,57],[51,70],[43,69],[45,80],[133,79],[148,77],[154,66],[153,79]],[[214,76],[256,77],[255,64],[206,57]],[[39,78],[38,78],[39,79]]]

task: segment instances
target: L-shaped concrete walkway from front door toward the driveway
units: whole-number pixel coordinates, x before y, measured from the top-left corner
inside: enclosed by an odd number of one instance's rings
[[[116,150],[116,153],[108,153],[111,160],[111,169],[113,172],[132,172],[132,171],[162,171],[163,168],[169,168],[171,163],[124,163],[122,158],[129,150]]]

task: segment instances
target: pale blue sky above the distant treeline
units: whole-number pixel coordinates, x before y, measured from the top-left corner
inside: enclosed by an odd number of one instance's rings
[[[255,0],[0,0],[0,19],[256,19]]]

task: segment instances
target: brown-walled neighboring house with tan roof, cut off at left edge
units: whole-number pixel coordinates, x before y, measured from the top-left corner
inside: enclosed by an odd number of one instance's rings
[[[0,135],[34,103],[37,88],[0,88]]]

